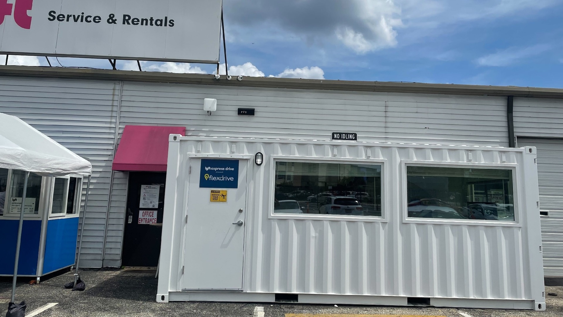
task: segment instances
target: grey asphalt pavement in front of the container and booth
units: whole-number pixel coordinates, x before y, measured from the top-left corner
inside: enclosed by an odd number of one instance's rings
[[[213,303],[213,302],[170,302],[157,303],[157,279],[151,270],[87,270],[81,271],[86,283],[84,292],[72,292],[62,285],[73,281],[73,272],[66,272],[39,285],[29,285],[31,278],[20,278],[16,289],[16,301],[26,300],[29,315],[49,303],[38,317],[117,317],[117,316],[264,316],[283,317],[285,314],[363,314],[363,315],[428,315],[448,317],[519,317],[519,316],[563,316],[563,280],[546,279],[548,296],[547,310],[493,310],[493,309],[450,309],[419,306],[357,306],[357,305],[305,305],[298,303]],[[7,310],[11,292],[11,279],[0,279],[0,316]],[[263,309],[261,308],[263,307]],[[263,315],[262,315],[263,311]],[[258,315],[257,315],[258,314]]]

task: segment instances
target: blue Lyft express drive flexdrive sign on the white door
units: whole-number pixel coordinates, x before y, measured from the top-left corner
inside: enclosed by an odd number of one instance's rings
[[[239,160],[202,160],[200,188],[238,188]]]

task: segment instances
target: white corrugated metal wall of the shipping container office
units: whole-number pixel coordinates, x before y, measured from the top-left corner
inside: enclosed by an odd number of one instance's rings
[[[205,139],[182,140],[183,153],[196,153],[202,141],[202,153],[229,154],[236,144],[236,154],[265,153],[265,163],[254,167],[249,192],[255,199],[247,207],[246,216],[248,265],[245,270],[245,291],[267,293],[369,294],[409,297],[462,297],[531,299],[541,298],[541,290],[533,289],[541,268],[540,253],[531,252],[530,241],[540,244],[539,215],[535,212],[537,193],[518,184],[519,222],[495,224],[406,223],[403,219],[405,198],[401,161],[468,162],[520,164],[524,173],[523,152],[477,151],[471,148],[430,148],[378,144],[354,146],[307,144],[303,142],[261,142],[260,140]],[[370,149],[372,158],[387,160],[383,166],[383,203],[386,221],[362,222],[321,219],[276,219],[270,217],[270,155],[293,157],[365,158]],[[368,164],[362,162],[361,164]],[[373,164],[378,164],[373,162]],[[533,168],[529,160],[527,168]],[[181,166],[184,166],[181,164]],[[499,167],[500,168],[500,167]],[[180,170],[180,175],[184,175]],[[184,192],[184,180],[177,182]],[[177,195],[175,230],[184,222],[185,195]],[[530,208],[530,206],[532,208]],[[291,218],[291,216],[289,216]],[[172,223],[170,224],[172,226]],[[538,227],[535,227],[538,226]],[[527,235],[530,235],[528,237]],[[529,240],[531,239],[531,240]],[[537,240],[537,242],[535,241]],[[181,243],[177,246],[181,247]],[[172,249],[172,253],[180,253]],[[173,256],[181,267],[181,256]],[[176,264],[176,265],[178,265]],[[175,271],[175,267],[172,267]],[[172,278],[172,290],[176,285]],[[540,284],[540,285],[539,285]],[[541,281],[539,286],[543,285]]]

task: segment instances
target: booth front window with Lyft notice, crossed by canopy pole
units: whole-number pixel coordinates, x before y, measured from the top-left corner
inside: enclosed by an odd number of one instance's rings
[[[12,170],[10,180],[10,201],[8,201],[8,212],[19,213],[21,208],[21,198],[24,194],[24,178],[27,172],[22,170]],[[42,177],[29,173],[28,190],[25,194],[24,213],[39,213],[39,196],[41,196]]]

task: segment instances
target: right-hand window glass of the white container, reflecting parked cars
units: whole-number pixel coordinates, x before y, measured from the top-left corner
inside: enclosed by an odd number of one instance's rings
[[[512,170],[406,166],[408,217],[515,221]]]

